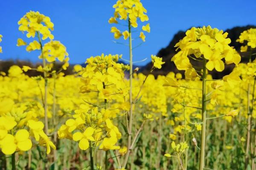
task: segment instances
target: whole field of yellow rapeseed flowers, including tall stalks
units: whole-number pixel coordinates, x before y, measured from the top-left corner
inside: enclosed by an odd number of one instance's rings
[[[40,51],[41,65],[0,72],[0,169],[256,170],[256,28],[240,33],[236,51],[227,32],[192,27],[168,61],[180,73],[155,77],[165,62],[151,55],[143,75],[133,40],[150,36],[146,7],[117,0],[109,34],[123,39],[129,60],[99,51],[64,75],[68,49],[50,16],[20,17],[17,46]],[[227,65],[235,67],[223,78],[209,74]]]

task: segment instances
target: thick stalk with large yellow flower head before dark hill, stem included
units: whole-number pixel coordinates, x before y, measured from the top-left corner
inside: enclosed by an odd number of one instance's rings
[[[178,70],[184,70],[187,79],[195,79],[200,77],[202,79],[202,101],[201,101],[201,116],[202,116],[202,130],[201,130],[201,154],[200,154],[200,170],[204,169],[204,154],[205,154],[205,140],[206,140],[206,125],[207,125],[207,70],[216,71],[224,70],[225,59],[226,64],[240,62],[241,57],[235,49],[230,47],[230,39],[227,38],[227,33],[217,28],[210,26],[202,28],[191,28],[186,31],[186,37],[178,42],[175,47],[180,51],[172,57]],[[197,66],[192,65],[189,59],[201,62],[198,69]],[[201,70],[202,69],[202,70]]]

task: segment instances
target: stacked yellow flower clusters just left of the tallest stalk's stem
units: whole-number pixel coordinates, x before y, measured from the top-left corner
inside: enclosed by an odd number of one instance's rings
[[[96,101],[84,100],[86,103],[81,104],[80,108],[75,111],[72,119],[68,119],[65,125],[58,130],[59,138],[72,139],[79,142],[81,150],[87,150],[90,146],[102,150],[116,150],[116,142],[121,138],[118,127],[113,125],[111,119],[116,117],[120,110],[129,110],[128,102],[124,98],[128,95],[125,89],[124,70],[127,66],[117,63],[118,55],[104,55],[90,57],[87,59],[86,68],[81,70],[81,93],[95,94]],[[104,105],[100,105],[104,101]],[[108,108],[108,103],[115,101]],[[100,144],[100,145],[99,145]]]

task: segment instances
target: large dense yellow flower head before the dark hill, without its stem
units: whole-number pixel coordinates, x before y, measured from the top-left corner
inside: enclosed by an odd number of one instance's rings
[[[191,28],[186,31],[186,37],[178,42],[175,47],[180,51],[172,57],[178,70],[185,70],[187,78],[196,77],[197,73],[191,64],[189,58],[195,60],[206,59],[206,68],[212,71],[224,70],[226,64],[240,62],[241,57],[233,47],[230,47],[231,40],[227,38],[227,32],[219,31],[217,28],[210,26],[202,28]]]

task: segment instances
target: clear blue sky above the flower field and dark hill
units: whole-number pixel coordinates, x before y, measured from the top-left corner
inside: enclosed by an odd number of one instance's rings
[[[128,47],[113,43],[108,19],[113,15],[115,0],[3,0],[0,4],[0,59],[39,61],[38,52],[28,53],[17,47],[17,38],[26,40],[18,31],[17,21],[29,11],[39,11],[54,23],[52,34],[69,53],[70,63],[83,63],[90,56],[123,54],[128,59]],[[151,33],[146,42],[134,49],[134,61],[148,58],[166,47],[173,35],[191,26],[210,25],[219,29],[256,25],[256,0],[141,0],[148,10]],[[125,30],[122,26],[117,26]],[[28,40],[26,40],[28,42]],[[119,42],[124,42],[120,39]],[[134,46],[141,41],[134,41]]]

